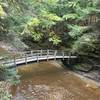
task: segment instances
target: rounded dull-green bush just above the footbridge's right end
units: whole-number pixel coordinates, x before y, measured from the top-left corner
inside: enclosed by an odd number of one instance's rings
[[[74,43],[72,52],[77,52],[79,54],[91,54],[95,51],[95,45],[93,45],[95,41],[96,38],[92,36],[92,34],[85,34]]]

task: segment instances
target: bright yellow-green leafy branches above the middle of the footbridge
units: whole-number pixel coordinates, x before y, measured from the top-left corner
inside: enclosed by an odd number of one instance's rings
[[[49,34],[48,30],[50,30],[51,27],[56,25],[59,21],[62,21],[62,19],[56,14],[43,11],[39,17],[33,18],[30,22],[28,22],[23,33],[28,33],[32,36],[34,41],[39,41],[44,36],[42,30],[45,29]],[[61,40],[57,35],[54,35],[52,37],[50,36],[49,41],[54,45],[57,45]]]

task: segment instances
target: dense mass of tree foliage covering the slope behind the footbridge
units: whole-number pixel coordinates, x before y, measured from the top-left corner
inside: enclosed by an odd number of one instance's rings
[[[66,45],[70,44],[71,49],[80,49],[80,43],[81,47],[94,46],[92,41],[82,42],[85,35],[91,36],[91,31],[83,24],[93,20],[90,16],[97,14],[99,17],[99,4],[99,0],[1,0],[0,16],[6,13],[6,17],[0,19],[0,34],[17,34],[39,43],[49,41],[56,46],[61,42],[65,44],[62,37],[66,36]],[[93,46],[89,47],[91,51]]]

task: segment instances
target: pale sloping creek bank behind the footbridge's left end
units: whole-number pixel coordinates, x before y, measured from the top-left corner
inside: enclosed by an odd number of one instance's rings
[[[8,53],[18,53],[27,49],[28,46],[23,43],[19,38],[4,38],[0,40],[0,55]]]

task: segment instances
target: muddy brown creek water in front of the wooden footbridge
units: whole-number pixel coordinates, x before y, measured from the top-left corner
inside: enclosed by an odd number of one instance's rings
[[[19,66],[21,82],[12,86],[12,100],[100,100],[100,90],[86,83],[55,61]]]

